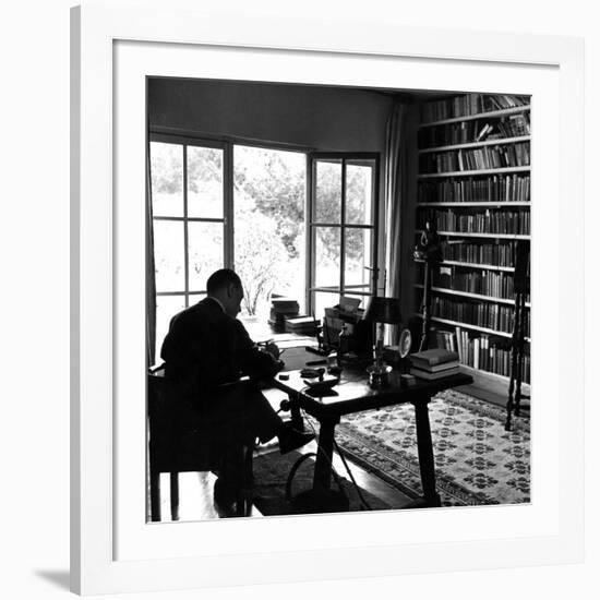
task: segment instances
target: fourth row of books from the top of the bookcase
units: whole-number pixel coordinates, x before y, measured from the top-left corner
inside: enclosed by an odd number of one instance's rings
[[[418,202],[530,202],[528,175],[494,175],[485,178],[421,181]]]

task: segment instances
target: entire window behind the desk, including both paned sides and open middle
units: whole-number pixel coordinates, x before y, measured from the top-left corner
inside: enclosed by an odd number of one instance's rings
[[[171,316],[202,299],[223,266],[244,285],[242,316],[261,321],[272,293],[317,319],[340,293],[372,295],[376,156],[310,155],[310,169],[308,157],[152,135],[157,349]]]

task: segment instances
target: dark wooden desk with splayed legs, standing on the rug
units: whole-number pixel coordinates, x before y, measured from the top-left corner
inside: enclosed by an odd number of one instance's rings
[[[418,379],[417,384],[410,387],[372,389],[365,374],[359,371],[345,370],[340,383],[334,387],[335,396],[313,397],[308,393],[308,386],[304,384],[300,371],[288,371],[283,374],[289,376],[289,379],[281,380],[281,373],[279,373],[274,380],[275,387],[288,394],[296,411],[299,409],[305,410],[320,424],[313,491],[331,489],[335,427],[344,415],[410,403],[415,407],[419,468],[423,485],[423,497],[411,503],[410,506],[441,506],[440,495],[435,490],[435,466],[429,424],[429,403],[439,392],[472,383],[470,375],[456,374],[436,381]],[[315,497],[316,495],[315,493]]]

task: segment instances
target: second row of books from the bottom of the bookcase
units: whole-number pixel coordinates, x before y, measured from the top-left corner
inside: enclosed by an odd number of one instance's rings
[[[513,333],[514,308],[501,307],[490,302],[466,302],[451,298],[440,298],[434,296],[431,299],[431,314],[440,319],[449,321],[459,321],[487,329],[496,332]],[[528,337],[530,332],[530,311],[525,313],[525,335]]]

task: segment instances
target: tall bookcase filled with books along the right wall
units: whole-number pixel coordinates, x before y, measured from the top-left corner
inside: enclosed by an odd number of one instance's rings
[[[416,235],[432,219],[444,253],[430,344],[457,350],[476,381],[500,387],[511,375],[516,244],[530,240],[530,140],[529,96],[464,94],[421,107]],[[419,307],[421,272],[416,280]],[[529,383],[529,301],[526,329]]]

